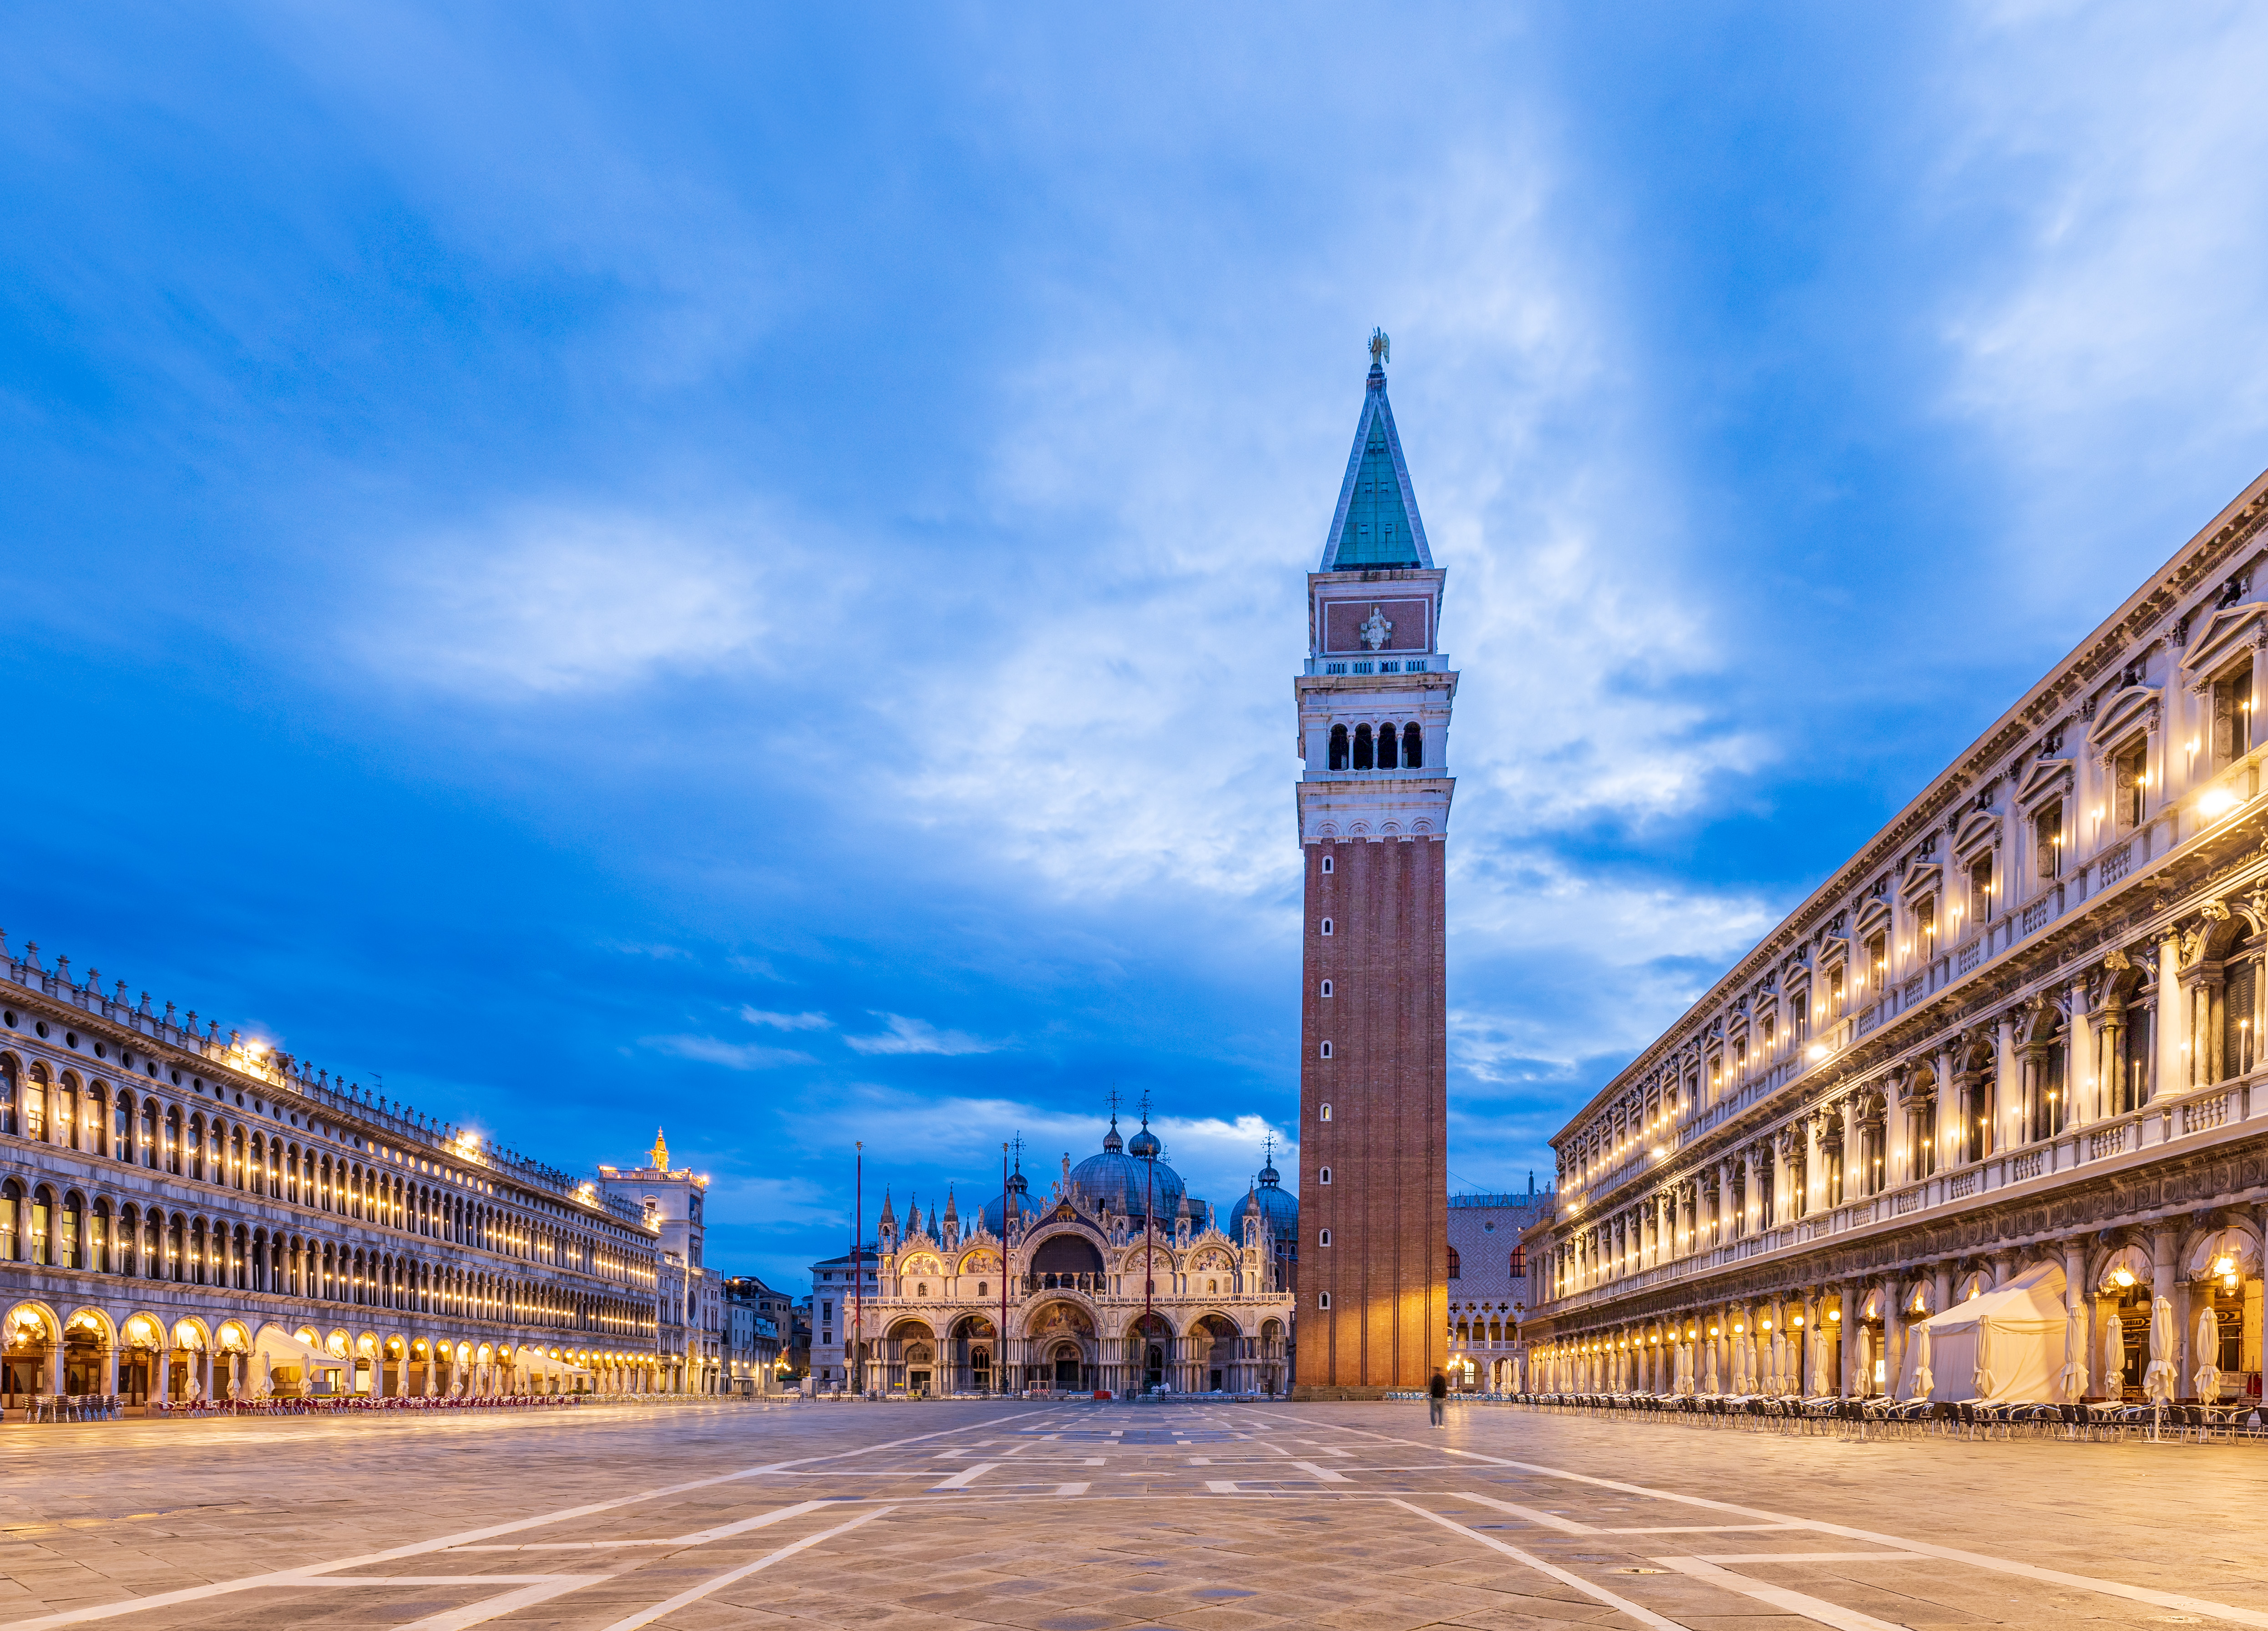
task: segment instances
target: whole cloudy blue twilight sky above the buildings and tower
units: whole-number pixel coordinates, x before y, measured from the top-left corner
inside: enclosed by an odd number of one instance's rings
[[[18,7],[0,923],[710,1261],[1295,1112],[1368,363],[1452,1173],[2268,463],[2257,7]],[[1286,1164],[1288,1168],[1288,1164]],[[869,1200],[871,1205],[871,1200]]]

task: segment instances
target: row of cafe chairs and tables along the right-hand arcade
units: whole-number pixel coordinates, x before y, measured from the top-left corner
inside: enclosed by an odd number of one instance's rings
[[[1669,1393],[1515,1393],[1513,1404],[1585,1415],[1667,1415],[1699,1427],[1837,1436],[1946,1438],[2177,1438],[2268,1440],[2268,1411],[2250,1404],[1978,1404],[1973,1400],[1844,1400]]]

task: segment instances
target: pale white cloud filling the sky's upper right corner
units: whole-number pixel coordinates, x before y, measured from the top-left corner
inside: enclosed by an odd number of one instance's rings
[[[2268,14],[1982,7],[1944,59],[1923,197],[1991,245],[1946,297],[1946,404],[2009,465],[2023,594],[2100,615],[2116,592],[2046,549],[2123,590],[2261,463]]]

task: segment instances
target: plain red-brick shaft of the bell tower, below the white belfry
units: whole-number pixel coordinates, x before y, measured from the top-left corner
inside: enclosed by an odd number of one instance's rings
[[[1302,1393],[1422,1388],[1447,1359],[1449,1318],[1447,844],[1302,851],[1297,1381]]]

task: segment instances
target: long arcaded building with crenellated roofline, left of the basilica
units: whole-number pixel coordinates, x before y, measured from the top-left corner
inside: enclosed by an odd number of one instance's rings
[[[594,1184],[0,941],[9,1406],[685,1386],[658,1268]]]

